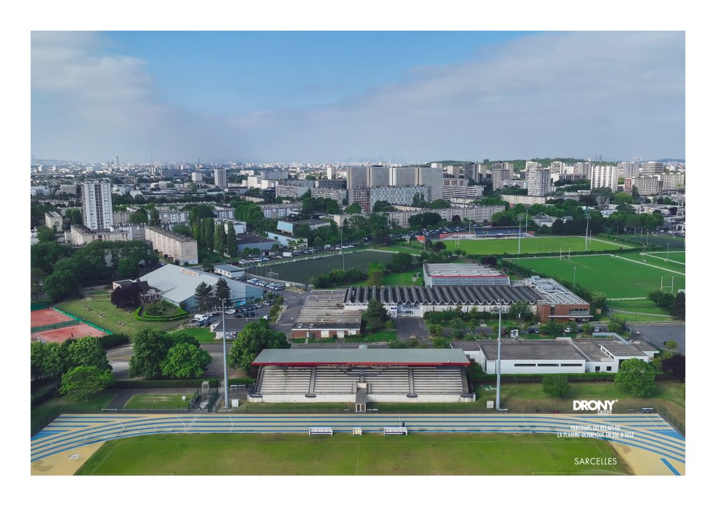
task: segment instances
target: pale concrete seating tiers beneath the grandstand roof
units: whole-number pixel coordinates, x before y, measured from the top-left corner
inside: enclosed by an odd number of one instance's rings
[[[368,395],[457,394],[472,396],[465,369],[436,366],[381,366],[342,368],[335,366],[263,366],[251,394],[300,394],[316,397],[356,394],[357,384],[366,384]]]

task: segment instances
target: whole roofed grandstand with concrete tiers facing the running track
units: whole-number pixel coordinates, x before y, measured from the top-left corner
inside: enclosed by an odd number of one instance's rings
[[[470,402],[459,349],[265,349],[249,402]]]

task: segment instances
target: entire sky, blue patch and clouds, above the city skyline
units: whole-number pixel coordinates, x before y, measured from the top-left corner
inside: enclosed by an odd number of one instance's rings
[[[682,31],[34,31],[32,155],[684,158]]]

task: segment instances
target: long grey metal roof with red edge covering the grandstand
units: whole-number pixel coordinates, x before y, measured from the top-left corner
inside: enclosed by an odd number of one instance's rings
[[[470,364],[456,349],[265,349],[251,365],[453,365]]]

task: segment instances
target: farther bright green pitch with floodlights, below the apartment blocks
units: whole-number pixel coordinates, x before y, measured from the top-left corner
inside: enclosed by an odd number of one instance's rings
[[[452,251],[460,248],[468,252],[468,255],[516,255],[518,239],[474,239],[460,240],[460,245],[455,246],[455,240],[443,239],[443,243]],[[574,235],[556,235],[546,237],[533,237],[519,240],[520,253],[559,253],[561,250],[566,253],[584,252],[584,237]],[[633,248],[627,244],[618,243],[614,240],[593,238],[587,245],[588,251],[619,250],[620,248]]]

